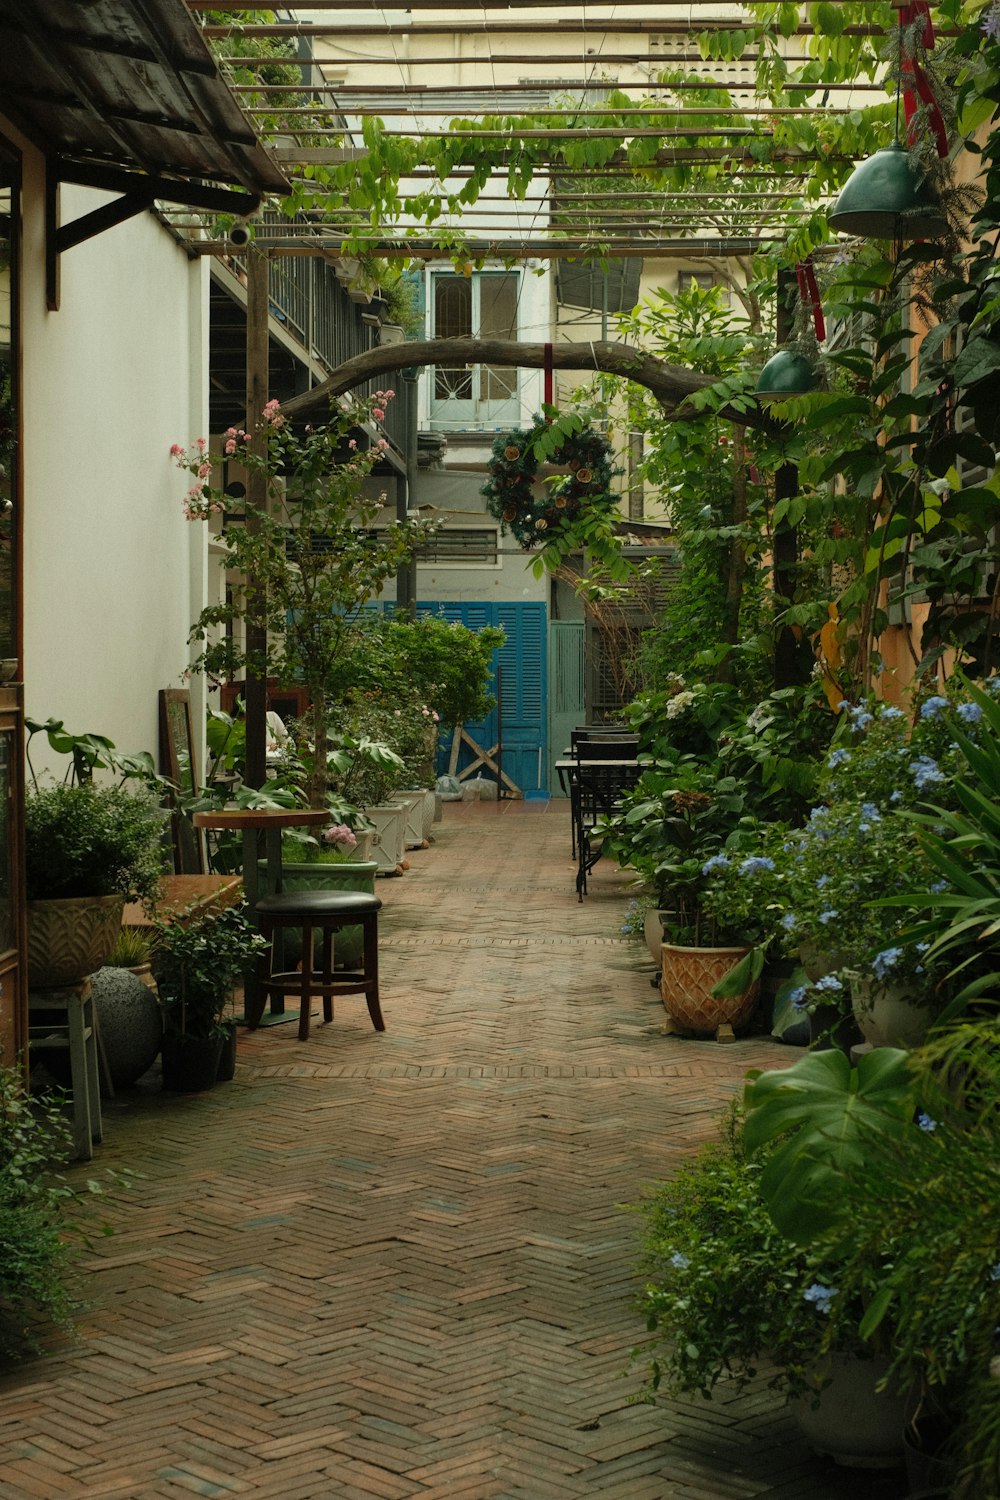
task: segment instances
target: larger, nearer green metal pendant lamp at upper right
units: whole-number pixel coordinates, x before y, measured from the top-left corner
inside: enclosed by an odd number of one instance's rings
[[[948,228],[927,178],[898,141],[855,168],[828,220],[867,240],[934,238]]]

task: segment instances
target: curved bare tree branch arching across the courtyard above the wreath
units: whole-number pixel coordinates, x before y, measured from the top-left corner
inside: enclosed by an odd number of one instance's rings
[[[340,364],[330,380],[301,396],[292,396],[282,406],[286,417],[298,420],[325,411],[331,400],[378,375],[423,364],[501,364],[520,369],[544,369],[544,344],[514,344],[508,339],[418,339],[414,344],[388,344],[355,354]],[[595,339],[592,344],[553,344],[552,368],[558,370],[597,370],[619,375],[652,392],[667,416],[673,416],[688,396],[715,382],[684,364],[669,364],[652,354],[643,354],[628,344]],[[723,411],[721,416],[744,426],[774,426],[763,408],[742,412]]]

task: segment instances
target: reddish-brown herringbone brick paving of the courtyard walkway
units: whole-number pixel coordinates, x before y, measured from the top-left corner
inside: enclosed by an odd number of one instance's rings
[[[136,1176],[79,1338],[0,1377],[0,1500],[897,1500],[766,1390],[633,1402],[627,1204],[795,1053],[663,1035],[565,804],[435,832],[379,882],[385,1034],[342,1000],[241,1034],[231,1084],[108,1106],[94,1166]]]

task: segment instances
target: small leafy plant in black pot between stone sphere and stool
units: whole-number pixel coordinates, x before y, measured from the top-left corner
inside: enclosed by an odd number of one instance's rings
[[[265,948],[246,906],[192,910],[156,924],[165,1089],[193,1094],[216,1082],[232,990]]]

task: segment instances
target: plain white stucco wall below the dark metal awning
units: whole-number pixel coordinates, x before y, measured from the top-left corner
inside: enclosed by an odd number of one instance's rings
[[[181,516],[169,446],[207,435],[207,266],[142,213],[61,256],[48,312],[30,150],[24,170],[27,712],[156,754],[157,690],[183,686],[205,590],[205,528]],[[63,188],[63,222],[103,200]]]

